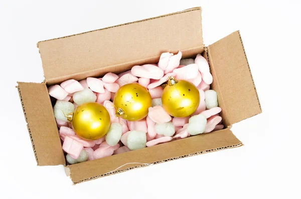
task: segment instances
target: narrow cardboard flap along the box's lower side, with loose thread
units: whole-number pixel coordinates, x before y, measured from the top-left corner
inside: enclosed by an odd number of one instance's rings
[[[241,142],[227,128],[118,155],[72,164],[68,167],[70,168],[72,181],[79,183],[132,168],[146,166],[143,164],[127,164],[122,166],[129,162],[161,163],[240,145],[242,145]],[[118,169],[115,170],[116,168]]]

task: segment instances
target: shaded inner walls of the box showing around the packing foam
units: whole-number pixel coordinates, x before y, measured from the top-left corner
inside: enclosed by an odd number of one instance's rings
[[[208,55],[207,55],[207,49],[206,48],[199,48],[199,49],[189,49],[189,50],[184,50],[183,52],[183,56],[182,58],[186,59],[186,58],[196,58],[197,54],[201,54],[203,57],[205,57],[208,60]],[[154,64],[154,63],[158,63],[159,62],[159,58],[160,55],[157,56],[156,58],[149,58],[147,60],[137,60],[131,63],[123,63],[118,65],[118,67],[116,66],[108,66],[108,67],[104,67],[101,68],[99,70],[97,70],[96,72],[94,72],[94,76],[93,77],[102,77],[103,75],[105,75],[108,72],[114,72],[116,74],[130,70],[133,66],[135,65],[143,65],[143,64]],[[209,63],[210,64],[210,63]],[[211,66],[210,66],[211,67]],[[97,75],[95,75],[97,74]],[[77,80],[82,80],[82,79],[86,79],[87,77],[91,77],[91,72],[87,71],[87,72],[83,72],[81,74],[74,74],[72,76],[70,76],[70,79],[77,79]],[[214,80],[213,80],[214,81]],[[60,84],[61,82],[54,82],[56,84]],[[51,85],[51,84],[50,84]],[[49,86],[49,84],[48,84]],[[211,84],[211,88],[215,91],[218,91],[218,84]],[[51,97],[51,101],[52,101],[52,105],[55,104],[55,99]],[[223,107],[221,107],[223,109]],[[226,114],[222,115],[223,117],[226,117]],[[223,118],[223,124],[224,121],[227,120],[227,118]],[[227,127],[227,125],[224,124],[225,127]],[[68,163],[66,161],[66,163]]]

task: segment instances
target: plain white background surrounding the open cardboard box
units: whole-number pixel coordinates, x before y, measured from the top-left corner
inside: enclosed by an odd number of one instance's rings
[[[301,197],[299,1],[0,2],[0,198]],[[233,125],[244,146],[78,185],[36,165],[15,86],[44,80],[38,41],[198,6],[206,45],[241,32],[263,110]]]

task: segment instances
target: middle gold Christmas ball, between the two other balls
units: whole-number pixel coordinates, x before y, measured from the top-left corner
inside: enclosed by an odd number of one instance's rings
[[[113,103],[116,117],[136,121],[146,117],[148,108],[152,106],[152,97],[140,84],[125,84],[115,93]]]

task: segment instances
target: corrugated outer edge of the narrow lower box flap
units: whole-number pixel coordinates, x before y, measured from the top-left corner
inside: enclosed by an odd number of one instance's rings
[[[230,149],[230,148],[236,148],[236,147],[239,147],[239,146],[243,146],[243,143],[240,142],[240,143],[235,144],[235,145],[208,149],[208,150],[199,151],[199,152],[196,152],[196,153],[191,153],[191,154],[188,154],[188,155],[182,155],[182,156],[178,156],[178,157],[168,158],[168,159],[157,161],[157,162],[150,162],[150,163],[143,164],[143,165],[132,166],[132,167],[129,167],[129,168],[125,168],[125,169],[122,169],[122,170],[116,170],[116,171],[108,172],[108,173],[97,175],[97,176],[90,177],[90,178],[87,178],[87,179],[83,179],[83,180],[79,180],[79,181],[73,181],[73,184],[78,184],[78,183],[81,183],[81,182],[86,182],[86,181],[89,181],[89,180],[93,180],[93,179],[97,179],[97,178],[101,178],[101,177],[113,175],[113,174],[116,174],[116,173],[122,173],[124,171],[132,170],[132,169],[135,169],[135,168],[141,168],[141,167],[150,166],[150,165],[154,165],[154,164],[159,164],[159,163],[163,163],[163,162],[168,162],[168,161],[172,161],[172,160],[176,160],[176,159],[181,159],[181,158],[185,158],[185,157],[191,157],[191,156],[195,156],[195,155],[200,155],[200,154],[205,154],[205,153],[210,153],[210,152],[215,152],[215,151],[220,151],[220,150],[225,150],[225,149]],[[70,176],[70,178],[72,179],[72,174],[70,173],[70,169],[68,167],[65,167],[65,172],[66,172],[66,175]]]

